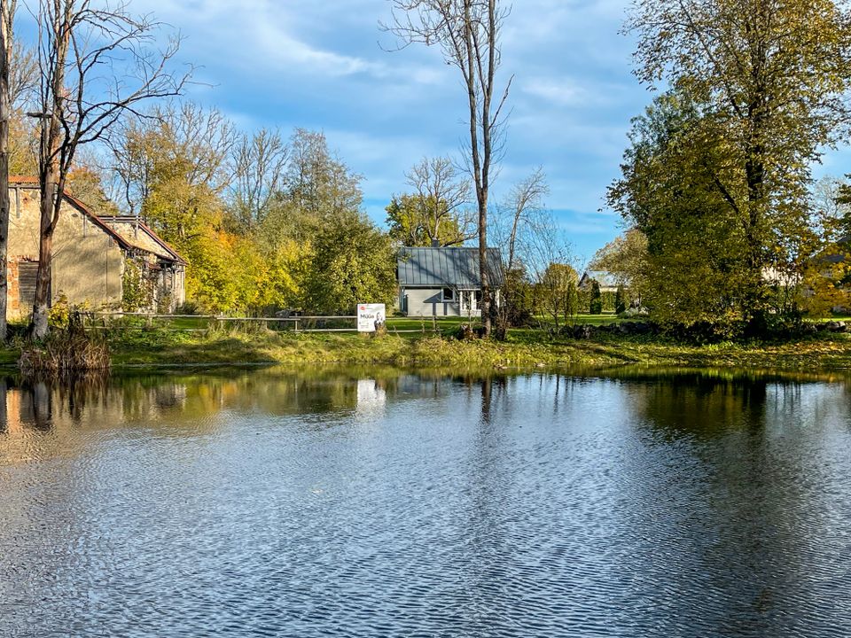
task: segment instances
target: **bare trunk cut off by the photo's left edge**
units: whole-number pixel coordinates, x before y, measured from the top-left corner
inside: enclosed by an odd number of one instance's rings
[[[6,338],[6,253],[9,244],[9,119],[12,116],[12,37],[16,0],[0,0],[0,339]]]

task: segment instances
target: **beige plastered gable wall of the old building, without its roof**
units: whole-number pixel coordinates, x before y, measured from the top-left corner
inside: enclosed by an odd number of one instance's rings
[[[16,192],[17,191],[17,192]],[[38,260],[39,191],[11,188],[9,215],[10,264]],[[121,276],[124,259],[113,238],[71,204],[62,205],[53,236],[52,298],[65,294],[69,303],[93,307],[121,305]],[[7,288],[9,315],[28,315],[32,308],[20,307],[18,286],[10,267]]]

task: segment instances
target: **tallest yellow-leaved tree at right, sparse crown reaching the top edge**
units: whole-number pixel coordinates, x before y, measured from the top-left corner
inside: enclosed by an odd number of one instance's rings
[[[727,146],[714,190],[744,241],[740,300],[766,319],[767,269],[791,262],[806,218],[810,166],[847,132],[851,20],[831,0],[636,0],[636,75],[705,107]]]

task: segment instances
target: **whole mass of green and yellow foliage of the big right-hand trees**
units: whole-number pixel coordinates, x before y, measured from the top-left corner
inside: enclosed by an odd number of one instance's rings
[[[849,117],[847,7],[638,0],[627,29],[639,78],[673,87],[634,124],[610,191],[649,241],[647,305],[765,326],[782,308],[764,274],[800,275],[818,253],[808,184]]]

